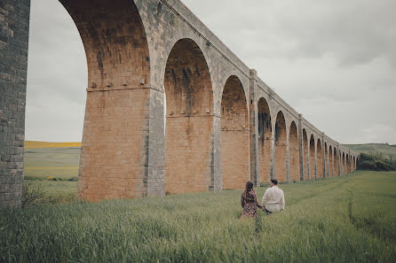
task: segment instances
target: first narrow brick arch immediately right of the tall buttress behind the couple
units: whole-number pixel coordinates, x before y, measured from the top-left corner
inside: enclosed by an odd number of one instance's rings
[[[260,180],[269,182],[271,179],[271,112],[264,97],[258,100],[258,161],[260,164]]]

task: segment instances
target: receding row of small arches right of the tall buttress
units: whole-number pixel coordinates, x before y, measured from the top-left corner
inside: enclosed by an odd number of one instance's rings
[[[337,154],[337,148],[323,142],[321,136],[315,139],[313,133],[308,136],[306,128],[302,128],[300,138],[298,120],[292,120],[287,127],[283,112],[278,111],[272,121],[270,107],[264,97],[257,102],[257,115],[259,177],[262,182],[273,177],[280,182],[309,180],[355,170],[355,157],[344,151]]]

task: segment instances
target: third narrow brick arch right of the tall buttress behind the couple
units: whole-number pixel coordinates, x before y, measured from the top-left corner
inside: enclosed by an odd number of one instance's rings
[[[300,147],[298,143],[298,134],[296,122],[292,121],[289,131],[289,166],[290,180],[300,181]]]

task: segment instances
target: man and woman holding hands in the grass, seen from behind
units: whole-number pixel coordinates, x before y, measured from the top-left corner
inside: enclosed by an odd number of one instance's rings
[[[258,204],[256,191],[253,190],[253,182],[246,182],[246,188],[242,192],[241,205],[243,208],[242,219],[257,217],[257,207],[266,214],[285,209],[285,197],[283,191],[278,188],[278,180],[271,179],[271,187],[265,190],[262,205]]]

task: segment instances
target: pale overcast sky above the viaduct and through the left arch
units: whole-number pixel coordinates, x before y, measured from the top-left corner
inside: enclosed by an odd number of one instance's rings
[[[396,1],[183,2],[339,143],[396,143]],[[83,43],[57,0],[31,1],[28,56],[26,139],[81,141]]]

